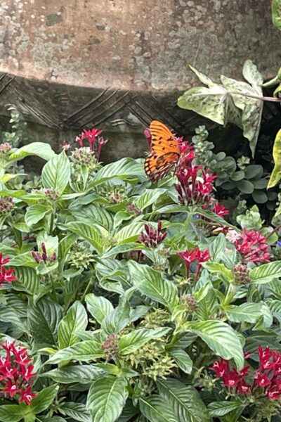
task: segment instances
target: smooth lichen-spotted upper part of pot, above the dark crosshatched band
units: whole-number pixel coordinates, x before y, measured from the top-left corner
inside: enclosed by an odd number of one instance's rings
[[[269,0],[2,0],[0,70],[81,87],[170,91],[188,64],[238,77],[280,65]]]

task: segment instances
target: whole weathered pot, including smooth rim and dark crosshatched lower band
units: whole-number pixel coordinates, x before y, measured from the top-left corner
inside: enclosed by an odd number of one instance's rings
[[[2,0],[0,115],[13,103],[59,137],[99,124],[138,155],[152,118],[188,134],[202,122],[176,106],[197,84],[188,64],[241,78],[251,58],[269,78],[280,34],[269,0]]]

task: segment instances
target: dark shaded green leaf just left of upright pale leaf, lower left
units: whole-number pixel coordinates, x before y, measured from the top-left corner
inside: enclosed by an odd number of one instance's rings
[[[58,323],[63,310],[57,303],[42,298],[36,306],[27,308],[27,321],[37,343],[55,345],[58,340]]]

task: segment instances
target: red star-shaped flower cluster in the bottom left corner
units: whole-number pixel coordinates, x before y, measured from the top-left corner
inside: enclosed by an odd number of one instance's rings
[[[27,355],[25,347],[15,346],[15,342],[0,343],[6,355],[0,357],[0,395],[14,397],[19,403],[30,404],[36,394],[32,393],[32,382],[36,373],[32,359]]]

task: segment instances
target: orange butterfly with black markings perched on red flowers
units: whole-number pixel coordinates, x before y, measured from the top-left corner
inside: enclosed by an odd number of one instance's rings
[[[180,147],[176,136],[158,120],[150,123],[150,134],[150,154],[145,158],[145,173],[151,181],[158,181],[176,165]]]

